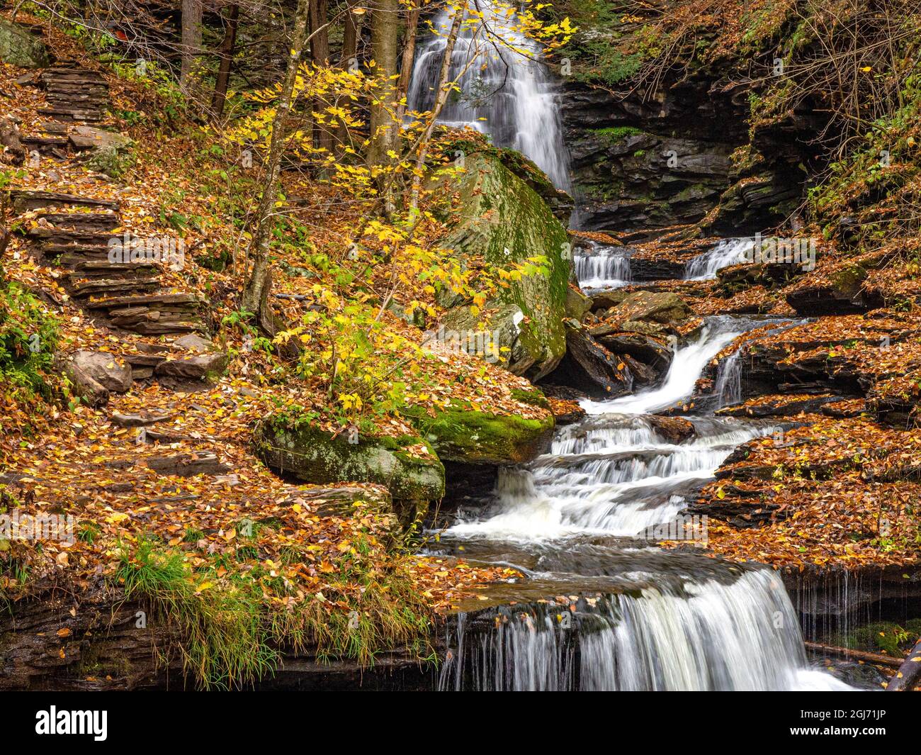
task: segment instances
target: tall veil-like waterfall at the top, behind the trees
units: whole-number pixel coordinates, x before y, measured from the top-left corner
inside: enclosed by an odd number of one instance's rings
[[[557,188],[568,189],[568,155],[556,88],[540,61],[541,47],[513,29],[506,4],[482,0],[480,7],[483,20],[463,25],[451,55],[449,75],[458,80],[461,92],[449,98],[438,121],[470,126],[490,136],[497,147],[519,150]],[[448,12],[438,13],[432,25],[447,36]],[[434,105],[447,45],[444,36],[432,35],[419,46],[407,97],[411,110],[423,112]]]

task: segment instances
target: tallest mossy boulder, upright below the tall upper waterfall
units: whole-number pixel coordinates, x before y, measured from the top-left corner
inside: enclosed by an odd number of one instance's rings
[[[541,196],[496,155],[469,155],[466,171],[452,188],[461,197],[461,218],[442,242],[446,247],[493,265],[521,263],[536,255],[548,261],[547,275],[512,281],[484,308],[486,329],[498,334],[500,347],[508,348],[502,352],[503,366],[536,380],[565,354],[563,319],[571,266],[565,228]],[[464,309],[449,312],[446,326],[472,328]]]

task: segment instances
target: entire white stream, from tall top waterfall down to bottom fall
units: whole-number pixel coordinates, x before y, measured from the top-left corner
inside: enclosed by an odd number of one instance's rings
[[[568,189],[553,77],[536,46],[508,29],[499,7],[486,0],[483,23],[461,34],[450,66],[461,94],[440,121],[518,149]],[[439,33],[420,42],[408,97],[419,111],[434,101],[449,18],[436,15],[432,25]],[[691,260],[683,278],[716,277],[751,244],[719,242]],[[621,246],[591,244],[574,264],[585,290],[631,282],[630,253]],[[681,514],[733,449],[775,426],[689,417],[693,436],[675,443],[649,419],[692,395],[707,362],[764,323],[764,317],[707,318],[677,349],[658,387],[584,400],[587,416],[558,428],[546,454],[500,469],[487,500],[431,533],[433,553],[514,566],[525,575],[494,585],[485,600],[461,606],[449,621],[439,689],[850,689],[810,667],[799,614],[780,577],[706,557],[705,517]],[[717,406],[740,395],[738,360],[720,367]],[[687,542],[679,549],[656,545],[676,538]]]

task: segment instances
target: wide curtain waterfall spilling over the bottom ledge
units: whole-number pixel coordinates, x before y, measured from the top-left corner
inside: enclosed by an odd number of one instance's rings
[[[439,689],[847,689],[807,667],[796,611],[770,570],[579,598],[575,608],[503,607],[482,628],[461,616]]]

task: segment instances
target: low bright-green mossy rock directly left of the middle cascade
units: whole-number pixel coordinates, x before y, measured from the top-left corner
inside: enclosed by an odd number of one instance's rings
[[[534,400],[539,391],[534,392]],[[546,399],[543,399],[546,401]],[[437,412],[421,409],[409,413],[443,461],[463,464],[521,464],[542,453],[554,431],[548,412],[542,419],[490,414],[466,409]]]

